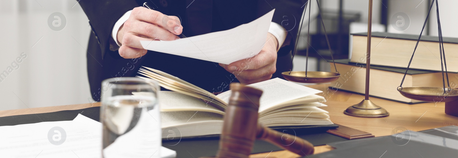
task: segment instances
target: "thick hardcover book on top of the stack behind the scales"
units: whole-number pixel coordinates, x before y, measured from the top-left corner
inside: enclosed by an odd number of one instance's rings
[[[351,63],[366,63],[367,33],[354,33]],[[410,68],[441,71],[438,37],[421,36]],[[372,32],[371,65],[407,68],[418,35]],[[458,72],[458,38],[443,37],[448,72]]]

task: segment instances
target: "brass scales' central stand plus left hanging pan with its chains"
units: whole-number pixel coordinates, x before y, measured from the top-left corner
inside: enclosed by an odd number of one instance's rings
[[[310,1],[310,0],[309,0]],[[307,1],[307,3],[309,2]],[[317,5],[318,5],[318,11],[320,16],[321,10],[320,10],[320,4],[318,3],[318,0],[316,0]],[[305,11],[307,5],[309,5],[309,23],[308,23],[308,32],[307,32],[307,47],[306,47],[306,64],[308,62],[308,52],[309,52],[309,38],[310,38],[310,9],[311,5],[310,4],[305,4],[305,10],[304,14],[302,16],[302,22],[300,24],[300,28],[302,28],[302,23],[304,20],[305,16]],[[336,70],[335,73],[332,72],[307,72],[307,66],[305,67],[305,72],[304,71],[287,71],[283,72],[282,75],[284,76],[285,79],[293,82],[299,82],[299,83],[329,83],[337,80],[340,77],[339,72],[337,71],[337,67],[335,66],[334,62],[334,57],[333,53],[331,50],[331,46],[329,45],[329,40],[327,37],[326,29],[324,26],[323,19],[321,18],[322,21],[322,26],[323,30],[325,33],[326,41],[327,41],[327,46],[329,47],[329,51],[331,53],[331,58],[334,63],[334,68]],[[370,65],[371,65],[371,29],[372,28],[372,0],[369,0],[369,18],[368,18],[368,34],[367,34],[367,61],[366,61],[366,84],[365,84],[365,99],[362,100],[360,103],[356,105],[352,105],[348,107],[345,111],[344,114],[349,115],[349,116],[355,116],[355,117],[366,117],[366,118],[376,118],[376,117],[386,117],[389,116],[388,111],[386,111],[384,108],[374,104],[371,100],[369,100],[369,72],[370,72]],[[301,30],[301,29],[300,29]],[[300,30],[298,32],[298,37],[300,37]],[[294,51],[293,51],[293,57],[291,61],[294,59],[294,54],[296,52],[297,48],[297,43],[299,39],[296,40]]]

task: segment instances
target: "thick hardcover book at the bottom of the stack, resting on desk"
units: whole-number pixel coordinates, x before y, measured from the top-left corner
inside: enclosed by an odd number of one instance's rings
[[[364,83],[366,78],[365,64],[350,63],[349,59],[335,60],[335,63],[338,71],[340,72],[340,78],[331,83],[331,87],[334,90],[346,90],[364,95]],[[398,92],[397,87],[401,84],[405,71],[405,68],[391,68],[371,65],[371,82],[369,83],[371,89],[369,89],[369,94],[371,96],[407,104],[423,103],[419,100],[406,98]],[[456,86],[458,83],[458,76],[456,74],[449,73],[448,77],[450,85],[452,87]],[[405,76],[403,87],[417,86],[442,87],[442,73],[409,69],[409,71],[407,71],[407,75]]]

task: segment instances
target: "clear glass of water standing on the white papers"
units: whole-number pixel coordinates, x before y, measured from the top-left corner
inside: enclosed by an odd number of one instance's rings
[[[103,158],[160,158],[158,83],[136,77],[102,82]]]

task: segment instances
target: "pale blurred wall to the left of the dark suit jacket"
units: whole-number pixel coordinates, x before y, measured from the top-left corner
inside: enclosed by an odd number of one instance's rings
[[[90,102],[86,73],[90,26],[76,2],[0,0],[0,73],[12,68],[6,78],[0,76],[0,110]],[[55,12],[66,19],[60,31],[48,25]],[[16,66],[13,62],[21,54],[27,56]]]

